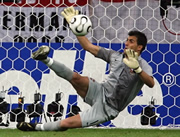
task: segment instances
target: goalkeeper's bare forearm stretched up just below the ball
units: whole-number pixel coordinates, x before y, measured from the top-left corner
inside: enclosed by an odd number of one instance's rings
[[[85,36],[77,36],[79,43],[81,44],[82,48],[94,56],[97,56],[100,47],[93,45]]]

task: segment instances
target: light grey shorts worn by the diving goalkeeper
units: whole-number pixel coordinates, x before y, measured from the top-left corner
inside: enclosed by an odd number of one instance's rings
[[[119,111],[107,105],[104,95],[104,87],[89,78],[89,88],[84,101],[91,108],[80,112],[82,127],[95,126],[114,119]]]

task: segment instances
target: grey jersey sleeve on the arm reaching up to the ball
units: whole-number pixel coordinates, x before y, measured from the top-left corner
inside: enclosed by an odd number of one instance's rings
[[[100,47],[99,52],[97,54],[97,58],[103,59],[104,61],[106,61],[107,63],[110,63],[110,58],[111,55],[114,53],[114,50],[111,49],[107,49],[107,48],[103,48]]]

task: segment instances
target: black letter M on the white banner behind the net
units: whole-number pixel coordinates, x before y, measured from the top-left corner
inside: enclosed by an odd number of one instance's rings
[[[39,16],[36,17],[36,13],[31,13],[30,16],[30,31],[43,31],[44,30],[44,13],[39,13]]]

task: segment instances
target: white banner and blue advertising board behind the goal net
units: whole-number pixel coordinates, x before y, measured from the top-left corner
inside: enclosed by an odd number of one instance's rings
[[[30,57],[39,46],[49,45],[52,48],[50,56],[74,71],[93,77],[99,82],[106,77],[108,65],[82,50],[60,15],[65,7],[71,5],[91,18],[93,31],[87,37],[97,45],[122,51],[128,31],[132,29],[140,30],[148,37],[147,49],[142,56],[153,68],[155,87],[150,89],[144,86],[135,100],[115,120],[100,126],[178,127],[180,124],[178,4],[167,6],[167,18],[163,20],[166,15],[161,17],[158,0],[64,0],[63,2],[21,0],[19,3],[1,3],[0,6],[0,88],[2,87],[0,98],[5,92],[3,101],[9,103],[8,112],[0,114],[0,128],[6,126],[14,128],[16,121],[10,121],[9,114],[18,107],[18,98],[24,97],[22,106],[26,110],[27,106],[34,102],[35,93],[42,95],[40,102],[45,114],[47,105],[55,100],[55,94],[59,91],[63,92],[60,101],[64,107],[62,118],[68,116],[69,109],[73,105],[78,105],[82,111],[89,107],[76,95],[69,83],[57,77],[43,63],[36,62]],[[163,21],[169,30],[163,25]],[[149,106],[152,98],[155,101],[156,124],[142,125],[141,112]],[[25,120],[30,120],[28,115]],[[39,118],[31,120],[41,121]],[[45,121],[44,115],[42,121]]]

